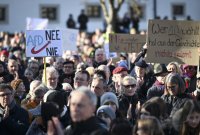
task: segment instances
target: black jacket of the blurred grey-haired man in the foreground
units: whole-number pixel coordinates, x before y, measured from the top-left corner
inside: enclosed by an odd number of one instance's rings
[[[94,133],[108,134],[108,131],[101,125],[97,117],[91,117],[86,121],[72,123],[66,129],[65,135],[92,135]]]

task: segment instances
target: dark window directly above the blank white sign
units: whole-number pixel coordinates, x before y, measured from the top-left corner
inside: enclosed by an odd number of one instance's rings
[[[40,8],[40,17],[49,19],[49,22],[58,22],[58,5],[42,5]]]

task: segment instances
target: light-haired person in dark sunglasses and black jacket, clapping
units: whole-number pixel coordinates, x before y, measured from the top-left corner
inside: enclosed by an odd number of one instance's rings
[[[138,103],[138,95],[136,94],[137,81],[132,76],[126,76],[122,80],[121,91],[118,97],[119,110],[122,117],[134,122],[136,115],[135,109]]]

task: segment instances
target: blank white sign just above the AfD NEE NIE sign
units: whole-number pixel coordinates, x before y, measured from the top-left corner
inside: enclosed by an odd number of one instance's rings
[[[48,19],[44,18],[26,18],[26,30],[44,30],[47,29]]]

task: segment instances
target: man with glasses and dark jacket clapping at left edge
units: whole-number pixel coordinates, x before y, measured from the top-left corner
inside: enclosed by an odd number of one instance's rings
[[[13,88],[0,84],[0,134],[25,135],[28,127],[28,112],[16,104]]]

